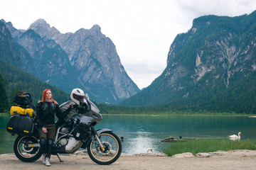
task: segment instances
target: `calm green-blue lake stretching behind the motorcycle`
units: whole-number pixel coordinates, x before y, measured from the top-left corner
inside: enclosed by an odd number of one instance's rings
[[[0,114],[0,154],[14,152],[14,140],[6,131],[9,116]],[[149,147],[154,152],[163,152],[171,145],[161,142],[166,137],[178,139],[219,138],[227,139],[228,135],[238,135],[241,140],[256,140],[256,118],[247,116],[191,116],[191,115],[102,115],[102,122],[95,129],[108,128],[119,137],[123,152],[126,154],[145,153]]]

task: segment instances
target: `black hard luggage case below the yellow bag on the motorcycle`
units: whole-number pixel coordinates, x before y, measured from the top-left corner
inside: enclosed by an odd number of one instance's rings
[[[7,123],[7,131],[11,135],[31,136],[35,127],[35,120],[29,116],[13,115]]]

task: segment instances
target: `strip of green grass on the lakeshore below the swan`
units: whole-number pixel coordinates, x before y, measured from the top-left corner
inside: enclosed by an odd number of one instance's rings
[[[216,152],[218,150],[228,151],[233,149],[256,150],[256,141],[253,140],[219,140],[203,139],[191,140],[187,142],[172,142],[164,153],[169,156],[191,152],[193,155],[199,152]]]

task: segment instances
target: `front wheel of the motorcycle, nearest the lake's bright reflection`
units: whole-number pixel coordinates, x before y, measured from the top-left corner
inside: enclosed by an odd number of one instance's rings
[[[100,148],[97,140],[92,140],[87,146],[87,151],[92,161],[102,165],[112,164],[117,161],[122,153],[122,143],[119,137],[113,132],[102,132],[99,138],[104,150]]]

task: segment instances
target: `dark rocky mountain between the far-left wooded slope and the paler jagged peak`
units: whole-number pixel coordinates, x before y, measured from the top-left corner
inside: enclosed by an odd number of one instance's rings
[[[16,37],[12,33],[16,50],[23,61],[21,69],[67,92],[73,89],[75,69],[71,67],[68,55],[54,40],[43,40],[30,29],[23,33],[18,33],[15,28],[9,30],[18,35]],[[82,87],[80,84],[78,86]]]

